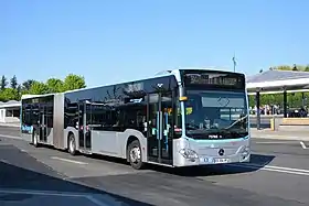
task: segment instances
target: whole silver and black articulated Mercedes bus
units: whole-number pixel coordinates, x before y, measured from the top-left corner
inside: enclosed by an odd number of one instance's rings
[[[21,135],[78,153],[181,167],[248,162],[245,75],[174,69],[147,79],[25,95]]]

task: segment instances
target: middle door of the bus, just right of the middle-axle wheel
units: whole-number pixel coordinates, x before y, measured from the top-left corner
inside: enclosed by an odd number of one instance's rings
[[[90,129],[88,127],[88,119],[90,112],[90,105],[85,101],[78,104],[78,147],[81,150],[90,151]]]

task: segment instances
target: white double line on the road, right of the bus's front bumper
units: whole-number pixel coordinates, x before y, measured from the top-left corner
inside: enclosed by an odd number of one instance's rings
[[[247,169],[255,169],[255,170],[262,170],[262,171],[270,171],[270,172],[279,172],[279,173],[288,173],[288,174],[298,174],[298,175],[309,176],[309,170],[302,170],[302,169],[291,169],[291,167],[259,165],[259,164],[234,164],[234,165],[231,165],[231,166],[247,167]]]

